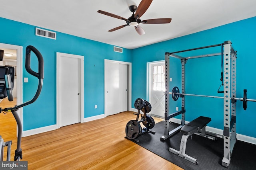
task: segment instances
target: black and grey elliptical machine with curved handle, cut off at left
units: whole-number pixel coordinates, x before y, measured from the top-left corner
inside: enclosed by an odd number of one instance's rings
[[[34,52],[34,54],[36,55],[36,57],[38,59],[38,72],[34,72],[30,68],[30,53],[31,53],[31,51]],[[35,47],[33,47],[31,45],[26,47],[25,68],[29,74],[38,78],[38,88],[36,90],[36,94],[30,101],[25,102],[23,104],[16,105],[14,107],[4,108],[4,109],[2,109],[0,107],[1,112],[2,111],[11,111],[16,120],[16,123],[17,123],[18,138],[17,138],[17,149],[15,150],[15,156],[14,156],[15,161],[16,160],[20,161],[22,159],[22,149],[21,149],[22,123],[20,121],[20,117],[19,117],[17,111],[20,107],[27,106],[36,101],[36,99],[38,98],[38,96],[40,95],[40,92],[42,90],[43,79],[44,79],[44,59],[43,59],[41,53]],[[12,89],[13,89],[14,79],[12,79],[12,78],[14,77],[14,71],[11,71],[11,69],[12,68],[9,69],[8,67],[0,66],[0,99],[6,98],[8,96],[9,101],[13,100]],[[4,147],[8,147],[7,161],[10,161],[11,145],[12,145],[12,141],[4,142],[4,139],[2,139],[2,137],[0,136],[0,161],[3,161]]]

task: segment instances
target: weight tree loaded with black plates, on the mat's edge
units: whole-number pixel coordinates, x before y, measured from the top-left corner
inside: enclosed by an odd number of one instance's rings
[[[136,120],[130,120],[126,124],[126,128],[125,128],[126,138],[133,140],[145,133],[155,134],[156,133],[155,131],[150,130],[154,127],[155,121],[153,117],[146,114],[151,111],[152,109],[151,104],[148,101],[143,100],[142,98],[138,98],[134,102],[134,107],[138,109],[138,112],[134,113],[134,115],[137,115],[137,117],[136,117]],[[140,120],[138,120],[140,115],[140,110],[144,114],[141,115]],[[145,127],[141,128],[140,126],[141,122],[146,128]],[[136,141],[139,142],[138,140]]]

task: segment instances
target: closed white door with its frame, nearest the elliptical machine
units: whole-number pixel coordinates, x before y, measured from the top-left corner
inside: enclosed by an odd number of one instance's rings
[[[57,53],[59,127],[81,121],[81,56]]]

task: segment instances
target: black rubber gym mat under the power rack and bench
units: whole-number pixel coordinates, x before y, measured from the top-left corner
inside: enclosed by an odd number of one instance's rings
[[[177,126],[175,123],[170,123],[170,128]],[[256,145],[236,141],[230,164],[228,168],[224,168],[221,165],[223,139],[218,138],[218,141],[212,141],[194,134],[192,140],[188,138],[186,154],[198,160],[198,165],[196,165],[168,151],[169,147],[180,149],[181,133],[176,133],[169,139],[161,141],[160,137],[164,134],[164,121],[156,123],[152,130],[156,131],[155,135],[146,133],[137,138],[138,142],[132,141],[185,170],[256,170],[256,158],[254,157]]]

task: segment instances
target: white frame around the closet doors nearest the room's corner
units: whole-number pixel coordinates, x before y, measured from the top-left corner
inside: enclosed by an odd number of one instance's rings
[[[132,109],[132,63],[104,59],[104,117],[106,117],[106,63],[118,63],[128,65],[128,111]]]

